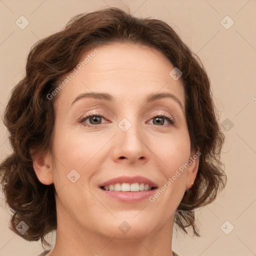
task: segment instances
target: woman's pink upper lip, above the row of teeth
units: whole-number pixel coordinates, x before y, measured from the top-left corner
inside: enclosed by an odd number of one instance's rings
[[[144,183],[148,184],[152,187],[157,187],[157,184],[154,183],[152,180],[143,177],[143,176],[120,176],[120,177],[115,177],[108,179],[107,181],[99,184],[98,186],[106,186],[110,184],[115,184],[115,183]]]

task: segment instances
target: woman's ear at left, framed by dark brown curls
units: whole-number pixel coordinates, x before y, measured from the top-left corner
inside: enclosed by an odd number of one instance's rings
[[[52,176],[52,155],[50,153],[37,153],[30,150],[33,160],[34,172],[38,180],[45,185],[53,183]]]

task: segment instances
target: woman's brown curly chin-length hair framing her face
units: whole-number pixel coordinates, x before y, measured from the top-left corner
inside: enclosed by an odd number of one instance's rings
[[[1,185],[12,210],[10,228],[26,240],[49,245],[45,236],[56,229],[54,184],[37,179],[30,149],[51,151],[54,126],[51,93],[63,75],[70,72],[82,54],[113,42],[133,42],[162,52],[182,71],[185,117],[191,149],[200,149],[194,185],[185,191],[174,214],[174,223],[200,236],[194,209],[212,202],[226,183],[220,161],[224,135],[212,100],[210,80],[198,56],[165,22],[137,18],[119,8],[108,7],[74,16],[60,32],[36,42],[26,62],[26,74],[12,89],[3,122],[9,131],[13,152],[0,164]],[[20,234],[15,226],[24,221],[29,229]]]

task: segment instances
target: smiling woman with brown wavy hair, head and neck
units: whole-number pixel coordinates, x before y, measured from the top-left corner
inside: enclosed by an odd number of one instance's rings
[[[209,78],[165,22],[105,8],[31,49],[4,123],[12,230],[40,255],[178,255],[225,185]]]

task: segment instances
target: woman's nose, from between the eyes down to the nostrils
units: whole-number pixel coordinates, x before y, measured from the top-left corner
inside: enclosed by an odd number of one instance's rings
[[[143,132],[141,124],[136,120],[136,115],[123,118],[116,127],[113,141],[113,160],[135,163],[145,162],[149,159],[148,137]]]

